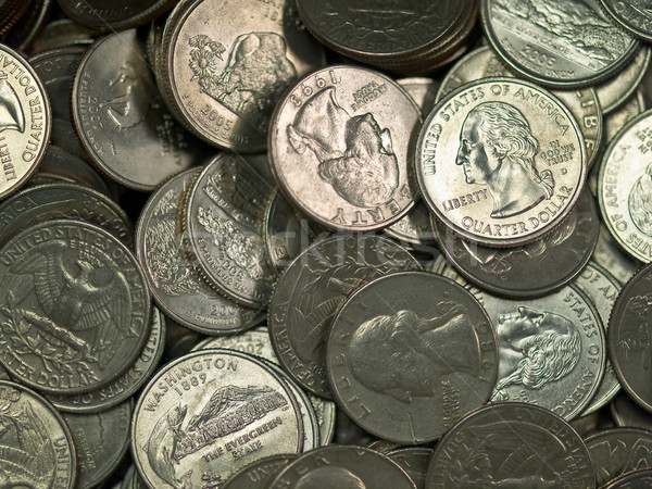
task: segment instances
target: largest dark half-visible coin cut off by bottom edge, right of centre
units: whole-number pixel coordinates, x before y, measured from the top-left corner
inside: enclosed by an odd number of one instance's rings
[[[550,411],[517,402],[465,417],[437,443],[426,488],[593,488],[580,436]]]

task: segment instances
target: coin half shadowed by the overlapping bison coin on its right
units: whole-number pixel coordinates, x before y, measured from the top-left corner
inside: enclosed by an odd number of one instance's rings
[[[92,162],[120,184],[151,191],[197,164],[203,146],[163,105],[143,53],[135,29],[96,42],[77,68],[72,112]]]

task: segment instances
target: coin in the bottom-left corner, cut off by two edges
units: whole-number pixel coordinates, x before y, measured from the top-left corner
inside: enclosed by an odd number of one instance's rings
[[[36,392],[0,380],[2,471],[8,488],[73,489],[75,446],[61,414]]]

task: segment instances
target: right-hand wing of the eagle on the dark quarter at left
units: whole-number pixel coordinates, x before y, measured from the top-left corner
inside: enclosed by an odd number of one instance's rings
[[[109,284],[87,291],[75,330],[97,328],[90,354],[104,368],[122,342],[129,336],[131,299],[127,280],[114,271]]]

